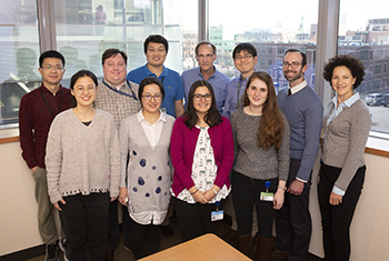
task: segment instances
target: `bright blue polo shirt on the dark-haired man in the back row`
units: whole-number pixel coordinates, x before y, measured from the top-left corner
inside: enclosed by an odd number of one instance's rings
[[[166,110],[169,116],[176,118],[176,106],[174,101],[183,99],[183,87],[181,82],[181,77],[177,71],[170,70],[169,68],[163,67],[162,73],[157,77],[156,73],[152,73],[147,64],[139,67],[127,74],[129,81],[133,81],[138,84],[147,78],[154,77],[158,78],[163,84],[164,97],[161,104],[161,109]]]

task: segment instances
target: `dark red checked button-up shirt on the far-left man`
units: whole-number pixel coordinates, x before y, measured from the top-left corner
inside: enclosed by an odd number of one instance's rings
[[[22,97],[19,109],[19,137],[21,154],[30,169],[37,165],[46,169],[46,143],[51,122],[54,116],[70,108],[70,99],[68,88],[60,87],[53,94],[43,83]]]

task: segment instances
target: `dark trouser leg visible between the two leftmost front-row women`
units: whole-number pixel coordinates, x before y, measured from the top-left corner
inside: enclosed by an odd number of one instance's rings
[[[108,213],[107,250],[116,250],[119,244],[118,200],[110,202]]]

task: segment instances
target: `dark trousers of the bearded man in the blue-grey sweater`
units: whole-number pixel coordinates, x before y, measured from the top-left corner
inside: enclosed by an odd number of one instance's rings
[[[290,159],[287,185],[296,180],[300,160]],[[276,211],[277,239],[275,248],[288,251],[289,261],[305,261],[308,257],[309,241],[312,233],[312,221],[309,213],[309,180],[300,195],[285,193],[285,203]]]

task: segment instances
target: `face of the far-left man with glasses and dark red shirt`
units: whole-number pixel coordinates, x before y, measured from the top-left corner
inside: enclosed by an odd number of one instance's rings
[[[64,73],[61,59],[46,58],[42,62],[42,68],[39,68],[39,72],[42,76],[44,87],[58,86]]]

